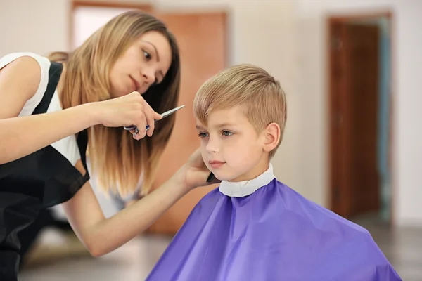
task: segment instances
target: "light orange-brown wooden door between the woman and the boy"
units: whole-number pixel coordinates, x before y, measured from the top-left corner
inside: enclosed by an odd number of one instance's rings
[[[160,171],[153,188],[160,186],[183,165],[200,146],[193,118],[193,98],[208,78],[226,67],[225,13],[159,13],[176,37],[181,55],[181,96],[176,124],[170,142],[160,159]],[[156,223],[149,233],[174,235],[196,203],[217,185],[196,188],[184,196]]]

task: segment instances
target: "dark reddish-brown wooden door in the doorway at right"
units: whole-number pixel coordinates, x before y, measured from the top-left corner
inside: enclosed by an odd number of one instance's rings
[[[331,202],[345,217],[380,209],[379,37],[377,26],[331,25]]]

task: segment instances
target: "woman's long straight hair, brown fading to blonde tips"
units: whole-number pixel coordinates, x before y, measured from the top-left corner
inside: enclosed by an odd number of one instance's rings
[[[49,55],[50,60],[63,62],[67,68],[63,81],[63,108],[110,99],[110,69],[141,34],[153,30],[170,42],[172,63],[162,83],[151,86],[143,98],[159,113],[176,107],[180,84],[177,41],[153,15],[129,11],[110,20],[72,53]],[[98,175],[104,191],[111,190],[120,195],[133,193],[143,174],[141,194],[146,195],[173,125],[174,115],[157,122],[153,136],[141,141],[134,141],[123,128],[102,125],[90,128],[88,150],[92,171]]]

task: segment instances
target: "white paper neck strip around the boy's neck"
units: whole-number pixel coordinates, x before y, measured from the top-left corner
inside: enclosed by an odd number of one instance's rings
[[[267,171],[249,181],[222,181],[219,191],[229,197],[245,197],[262,188],[262,186],[269,184],[274,178],[276,177],[273,174],[273,167],[270,163]]]

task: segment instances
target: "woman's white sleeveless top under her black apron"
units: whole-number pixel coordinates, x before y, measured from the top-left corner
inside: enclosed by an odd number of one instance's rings
[[[13,62],[13,60],[23,56],[29,56],[31,58],[34,58],[35,60],[37,60],[37,62],[39,63],[39,67],[41,68],[41,81],[39,81],[37,92],[32,98],[27,100],[27,102],[23,106],[23,109],[19,113],[19,116],[28,116],[32,115],[32,112],[34,111],[35,107],[37,107],[37,105],[41,102],[42,97],[44,96],[44,92],[47,89],[47,85],[49,84],[50,60],[48,58],[34,53],[10,53],[8,55],[5,55],[3,58],[0,58],[0,70],[9,63]],[[51,99],[51,103],[47,112],[55,112],[58,110],[63,110],[63,108],[60,105],[60,100],[58,98],[58,93],[56,89],[56,91],[54,91],[54,95]],[[63,124],[63,126],[65,126],[65,124]],[[53,130],[54,128],[51,129]],[[81,158],[79,148],[77,147],[75,135],[62,138],[60,141],[51,144],[51,146],[55,148],[58,152],[60,152],[60,154],[63,155],[66,159],[68,159],[68,161],[73,166],[75,166],[77,160]]]

